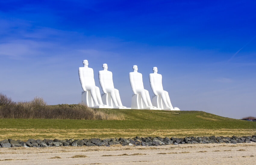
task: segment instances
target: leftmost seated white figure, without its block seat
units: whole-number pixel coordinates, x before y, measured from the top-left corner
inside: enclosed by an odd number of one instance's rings
[[[92,97],[92,105],[87,105],[89,107],[100,107],[105,106],[101,100],[100,89],[95,85],[94,76],[93,76],[93,69],[88,67],[88,61],[83,60],[84,67],[79,67],[78,74],[81,86],[83,91],[90,91],[90,95]],[[82,92],[82,102],[83,102],[83,93]],[[88,93],[87,93],[88,95]],[[90,98],[89,98],[90,99]]]

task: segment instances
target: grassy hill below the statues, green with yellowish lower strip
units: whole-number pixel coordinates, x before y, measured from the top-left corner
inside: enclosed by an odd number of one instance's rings
[[[74,105],[75,106],[75,105]],[[0,140],[12,138],[110,138],[135,136],[232,136],[256,134],[256,122],[203,111],[117,110],[124,120],[0,119]],[[178,114],[176,114],[178,113]]]

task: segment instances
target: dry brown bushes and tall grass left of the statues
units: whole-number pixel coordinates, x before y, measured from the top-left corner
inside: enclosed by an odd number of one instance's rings
[[[35,97],[32,101],[13,102],[11,98],[0,93],[0,118],[124,120],[124,115],[106,113],[84,105],[49,106],[39,97]]]

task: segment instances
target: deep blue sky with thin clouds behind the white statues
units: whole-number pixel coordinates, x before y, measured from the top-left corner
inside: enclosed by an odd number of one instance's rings
[[[158,67],[173,106],[256,116],[256,1],[0,1],[0,92],[77,104],[78,67],[103,63],[130,107],[134,64]],[[101,91],[102,92],[102,91]]]

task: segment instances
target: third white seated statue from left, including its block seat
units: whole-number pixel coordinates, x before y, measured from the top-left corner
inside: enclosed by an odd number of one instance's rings
[[[129,73],[130,84],[134,95],[132,95],[131,109],[156,109],[153,107],[149,93],[144,89],[142,74],[138,72],[138,66],[133,65],[133,72]]]

